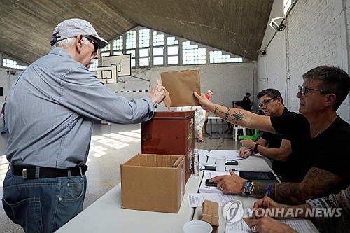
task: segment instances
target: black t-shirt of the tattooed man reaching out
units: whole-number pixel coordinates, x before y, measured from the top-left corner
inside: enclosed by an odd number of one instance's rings
[[[347,146],[350,139],[350,125],[339,116],[321,134],[311,139],[310,125],[301,114],[286,114],[272,117],[271,123],[276,132],[286,136],[292,143],[293,156],[302,176],[311,167],[330,171],[342,179],[330,193],[338,193],[350,185],[350,160]]]

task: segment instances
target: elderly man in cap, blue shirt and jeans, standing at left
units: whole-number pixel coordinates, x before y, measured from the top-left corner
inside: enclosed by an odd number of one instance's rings
[[[165,97],[162,86],[132,100],[105,87],[88,68],[108,42],[85,20],[58,24],[50,44],[48,55],[15,81],[6,103],[3,208],[25,232],[54,232],[83,210],[94,119],[144,122]]]

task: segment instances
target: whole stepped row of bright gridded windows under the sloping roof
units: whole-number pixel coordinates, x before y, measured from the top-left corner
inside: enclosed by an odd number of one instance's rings
[[[243,62],[229,52],[141,26],[116,37],[110,47],[102,50],[101,57],[131,54],[133,68]]]

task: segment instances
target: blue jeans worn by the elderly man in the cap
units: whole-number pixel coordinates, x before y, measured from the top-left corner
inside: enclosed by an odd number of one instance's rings
[[[3,209],[25,232],[55,232],[83,211],[86,176],[23,179],[9,170],[3,181]]]

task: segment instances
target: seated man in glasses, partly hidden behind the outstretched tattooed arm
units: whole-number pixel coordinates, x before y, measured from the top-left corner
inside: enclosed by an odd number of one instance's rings
[[[282,114],[291,114],[292,112],[283,104],[281,92],[276,89],[265,89],[258,93],[259,108],[267,116],[277,116]],[[258,141],[251,139],[241,140],[243,147],[239,149],[241,157],[248,157],[254,153],[260,153],[272,160],[272,170],[275,174],[281,176],[283,182],[300,182],[303,177],[299,177],[300,166],[297,166],[293,160],[292,146],[290,141],[284,139],[282,135],[263,132]],[[269,147],[267,147],[269,146]],[[251,150],[248,150],[251,149]]]

